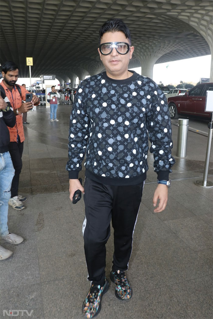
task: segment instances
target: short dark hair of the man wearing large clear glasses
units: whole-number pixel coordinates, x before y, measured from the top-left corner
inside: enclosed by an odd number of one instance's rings
[[[104,33],[116,31],[123,32],[126,35],[126,38],[129,39],[129,42],[131,44],[130,30],[126,23],[124,23],[124,21],[121,19],[108,19],[99,30],[99,41],[101,41],[101,38]]]

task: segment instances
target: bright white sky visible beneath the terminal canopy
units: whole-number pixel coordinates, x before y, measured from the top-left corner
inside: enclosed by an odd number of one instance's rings
[[[184,59],[173,62],[155,64],[153,69],[153,80],[159,84],[161,81],[164,85],[178,85],[180,81],[197,84],[200,78],[210,77],[211,56],[200,56],[196,58]],[[141,74],[141,68],[132,69]],[[33,84],[40,78],[32,78]],[[29,78],[19,78],[17,84],[26,84],[30,86]],[[58,85],[59,81],[45,81],[48,85]],[[41,84],[38,84],[42,86]]]

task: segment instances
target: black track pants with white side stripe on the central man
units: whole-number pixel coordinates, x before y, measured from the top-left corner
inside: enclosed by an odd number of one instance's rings
[[[143,184],[133,186],[104,185],[86,177],[84,251],[88,280],[103,285],[106,266],[106,243],[110,237],[110,220],[114,228],[113,270],[128,269],[133,232],[137,220]]]

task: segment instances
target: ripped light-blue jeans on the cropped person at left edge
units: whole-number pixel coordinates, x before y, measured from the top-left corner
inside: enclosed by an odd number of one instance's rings
[[[0,153],[0,235],[9,233],[7,226],[8,202],[15,170],[9,152]]]

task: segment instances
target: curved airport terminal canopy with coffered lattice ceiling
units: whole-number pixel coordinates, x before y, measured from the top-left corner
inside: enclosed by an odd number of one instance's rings
[[[213,56],[212,0],[1,0],[1,64],[12,60],[28,77],[55,74],[61,82],[97,74],[99,29],[109,18],[129,26],[129,67],[152,78],[155,63]],[[211,78],[213,76],[211,63]]]

